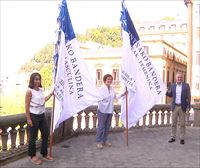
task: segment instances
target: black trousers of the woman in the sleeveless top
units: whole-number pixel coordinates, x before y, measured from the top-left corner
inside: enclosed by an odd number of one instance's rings
[[[38,135],[38,130],[41,132],[42,136],[42,146],[41,146],[41,155],[46,156],[48,154],[48,125],[45,118],[45,114],[32,114],[30,113],[30,117],[33,123],[33,126],[29,126],[30,130],[30,139],[28,146],[28,155],[30,157],[36,156],[36,138]]]

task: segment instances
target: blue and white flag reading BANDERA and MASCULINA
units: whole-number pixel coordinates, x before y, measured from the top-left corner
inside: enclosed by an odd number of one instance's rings
[[[57,20],[53,130],[64,120],[102,99],[84,63],[65,0]]]

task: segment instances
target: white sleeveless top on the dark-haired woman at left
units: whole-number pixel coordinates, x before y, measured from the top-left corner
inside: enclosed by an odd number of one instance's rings
[[[29,88],[30,89],[30,88]],[[43,114],[45,112],[45,97],[42,88],[39,90],[30,89],[32,93],[30,102],[30,113]]]

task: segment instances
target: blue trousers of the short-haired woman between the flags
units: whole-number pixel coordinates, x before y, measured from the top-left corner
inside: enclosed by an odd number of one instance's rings
[[[112,114],[101,113],[98,111],[98,128],[96,134],[96,142],[104,143],[108,139],[108,131],[111,126]]]

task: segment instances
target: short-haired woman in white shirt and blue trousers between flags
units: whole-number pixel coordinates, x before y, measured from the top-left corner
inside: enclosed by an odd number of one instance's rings
[[[98,128],[96,133],[97,148],[102,149],[103,146],[111,146],[111,143],[107,141],[108,131],[111,126],[112,113],[114,111],[114,99],[120,98],[126,94],[126,92],[119,97],[111,86],[113,77],[110,74],[106,74],[103,77],[104,86],[100,88],[100,94],[103,100],[98,104]]]

